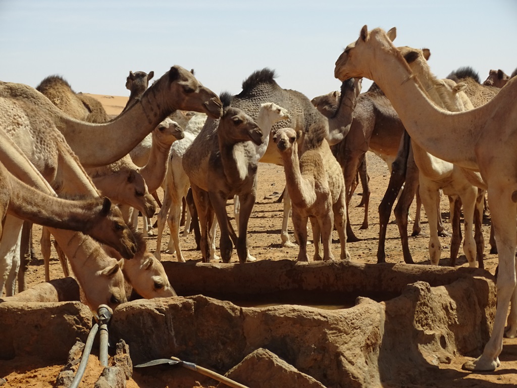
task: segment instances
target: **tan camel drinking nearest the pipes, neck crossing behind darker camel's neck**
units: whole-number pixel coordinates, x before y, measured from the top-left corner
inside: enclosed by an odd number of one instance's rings
[[[20,148],[3,131],[0,131],[0,137],[0,161],[3,165],[23,182],[48,195],[54,195],[52,188]],[[119,303],[127,301],[124,276],[120,271],[121,263],[108,257],[101,246],[89,236],[64,229],[51,231],[65,253],[73,257],[72,270],[84,292],[84,303],[97,311],[101,304],[115,308]]]

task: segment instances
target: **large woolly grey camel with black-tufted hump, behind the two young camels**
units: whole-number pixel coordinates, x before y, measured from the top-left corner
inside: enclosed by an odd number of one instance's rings
[[[349,123],[353,114],[353,109],[342,109],[339,115],[332,118],[326,118],[318,112],[309,98],[300,92],[281,88],[275,81],[275,71],[264,68],[254,71],[244,82],[242,82],[242,91],[232,97],[232,106],[244,110],[253,120],[256,120],[258,110],[264,102],[275,102],[290,112],[291,117],[285,122],[276,123],[272,129],[290,127],[296,131],[302,130],[307,132],[313,125],[324,125],[329,128],[327,140],[331,144],[337,144],[344,139],[349,130]],[[347,102],[346,99],[342,101]],[[345,116],[348,116],[346,118]],[[348,122],[348,125],[342,123]],[[263,163],[282,164],[282,158],[275,149],[275,145],[269,142],[264,156],[261,158]],[[288,198],[288,192],[284,195],[284,216],[282,220],[282,229],[280,232],[282,246],[294,247],[290,241],[287,232],[287,223],[291,212],[291,201]]]

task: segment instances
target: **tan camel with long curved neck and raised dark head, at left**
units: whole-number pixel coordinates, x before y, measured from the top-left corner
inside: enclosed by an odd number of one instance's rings
[[[105,166],[125,156],[175,110],[204,112],[214,118],[221,115],[217,95],[179,66],[151,85],[124,114],[104,124],[71,118],[27,85],[0,82],[0,96],[28,100],[47,112],[84,167]]]

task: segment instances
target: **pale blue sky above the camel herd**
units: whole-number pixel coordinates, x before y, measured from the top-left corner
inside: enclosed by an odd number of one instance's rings
[[[59,74],[75,92],[129,96],[130,70],[158,78],[180,65],[237,94],[269,67],[312,98],[339,89],[334,63],[364,24],[429,48],[440,78],[517,68],[517,0],[0,0],[0,80],[36,87]]]

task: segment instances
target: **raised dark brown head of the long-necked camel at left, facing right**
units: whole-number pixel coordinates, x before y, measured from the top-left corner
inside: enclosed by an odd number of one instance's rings
[[[206,113],[211,118],[221,117],[221,100],[196,80],[193,70],[188,71],[183,67],[173,66],[160,80],[164,78],[168,82],[165,98],[171,112],[180,109]]]

